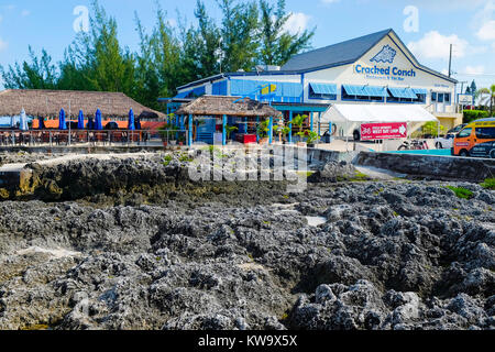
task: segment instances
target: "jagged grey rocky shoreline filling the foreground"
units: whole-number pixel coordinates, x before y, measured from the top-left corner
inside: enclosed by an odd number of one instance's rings
[[[332,164],[289,194],[188,163],[31,164],[0,202],[0,329],[495,328],[493,190]]]

